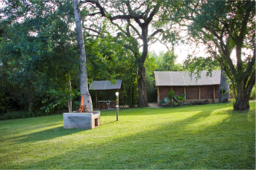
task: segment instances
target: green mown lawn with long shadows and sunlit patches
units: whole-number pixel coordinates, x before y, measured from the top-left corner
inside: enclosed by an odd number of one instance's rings
[[[256,102],[101,111],[102,125],[63,116],[0,121],[0,169],[256,169]]]

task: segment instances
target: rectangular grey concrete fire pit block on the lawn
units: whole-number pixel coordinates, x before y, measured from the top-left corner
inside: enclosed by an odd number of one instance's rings
[[[91,129],[101,125],[100,111],[89,113],[63,113],[63,128]]]

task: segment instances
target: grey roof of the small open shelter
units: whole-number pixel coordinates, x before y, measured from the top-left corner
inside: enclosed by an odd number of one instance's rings
[[[111,85],[110,81],[94,81],[90,85],[89,90],[104,91],[104,90],[120,90],[122,88],[122,79],[116,79],[116,84]]]

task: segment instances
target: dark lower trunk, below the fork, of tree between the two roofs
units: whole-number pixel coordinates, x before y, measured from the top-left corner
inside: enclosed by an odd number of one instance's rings
[[[146,70],[143,65],[139,68],[139,106],[146,107],[148,105],[147,91],[146,91]]]

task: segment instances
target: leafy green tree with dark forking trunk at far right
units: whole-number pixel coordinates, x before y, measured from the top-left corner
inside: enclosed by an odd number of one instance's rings
[[[256,81],[256,1],[187,0],[178,14],[192,23],[190,35],[207,45],[207,61],[219,62],[231,80],[234,110],[249,108]]]

